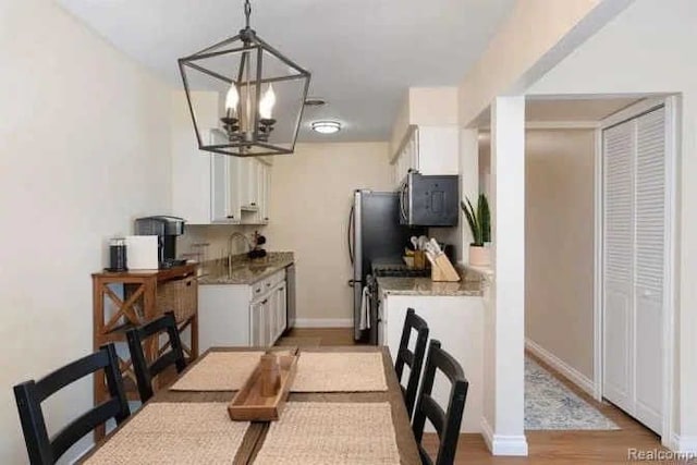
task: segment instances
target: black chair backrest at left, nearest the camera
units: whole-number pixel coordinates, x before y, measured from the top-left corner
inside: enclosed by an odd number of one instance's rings
[[[109,400],[83,414],[49,439],[41,402],[68,384],[101,369],[107,377]],[[32,464],[53,464],[71,445],[96,427],[111,418],[121,424],[131,415],[113,344],[102,345],[98,352],[59,368],[38,381],[30,380],[15,386],[14,396]]]

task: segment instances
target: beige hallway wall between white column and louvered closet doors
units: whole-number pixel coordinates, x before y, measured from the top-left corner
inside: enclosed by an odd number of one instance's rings
[[[594,131],[525,134],[525,338],[587,379],[594,376]]]

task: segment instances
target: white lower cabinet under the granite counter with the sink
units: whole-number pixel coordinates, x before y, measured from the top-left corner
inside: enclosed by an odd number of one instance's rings
[[[252,284],[201,284],[198,287],[200,352],[212,346],[261,346],[285,331],[285,270]]]

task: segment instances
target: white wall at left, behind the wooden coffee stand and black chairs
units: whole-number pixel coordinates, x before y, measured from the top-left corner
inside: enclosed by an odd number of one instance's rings
[[[169,212],[169,89],[48,0],[0,3],[0,463],[26,462],[12,386],[91,352],[107,238]],[[91,405],[46,404],[54,428]]]

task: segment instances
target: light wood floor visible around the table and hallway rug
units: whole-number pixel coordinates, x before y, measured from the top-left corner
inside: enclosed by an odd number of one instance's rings
[[[352,345],[351,329],[293,329],[280,344],[307,342],[310,345]],[[615,464],[627,463],[631,448],[663,449],[660,438],[609,403],[598,403],[541,360],[537,360],[580,397],[597,407],[621,429],[616,431],[527,431],[527,457],[494,457],[480,435],[461,435],[455,464]],[[424,446],[436,455],[438,438],[426,435]],[[667,463],[667,462],[641,462]],[[677,462],[671,462],[677,463]]]

